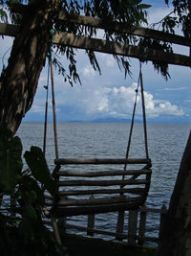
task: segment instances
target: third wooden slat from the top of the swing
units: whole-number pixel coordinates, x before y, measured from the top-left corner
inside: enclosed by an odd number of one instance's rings
[[[58,181],[58,186],[116,186],[116,185],[136,185],[147,184],[146,179],[127,180],[64,180]]]

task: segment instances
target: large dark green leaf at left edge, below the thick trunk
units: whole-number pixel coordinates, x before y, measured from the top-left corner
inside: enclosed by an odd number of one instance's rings
[[[11,132],[0,128],[0,189],[12,193],[18,183],[23,162],[22,144],[18,137],[11,138]]]

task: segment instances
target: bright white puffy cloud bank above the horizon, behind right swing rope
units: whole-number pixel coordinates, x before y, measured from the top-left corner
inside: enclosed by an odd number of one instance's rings
[[[99,87],[90,91],[86,90],[80,95],[81,100],[78,101],[79,107],[83,108],[87,115],[91,116],[115,116],[130,117],[135,103],[137,83],[125,87]],[[87,96],[85,98],[85,95]],[[79,95],[76,96],[78,98]],[[85,98],[85,99],[84,99]],[[172,105],[168,101],[154,100],[152,94],[144,92],[145,108],[149,117],[157,117],[159,115],[184,115],[182,109],[177,105]],[[76,103],[76,102],[75,102]],[[137,113],[141,115],[141,97],[138,93]]]

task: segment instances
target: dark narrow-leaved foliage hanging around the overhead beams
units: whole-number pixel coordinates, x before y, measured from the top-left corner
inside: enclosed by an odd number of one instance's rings
[[[9,8],[11,13],[11,20],[13,23],[22,23],[22,15],[15,14],[13,12],[13,7],[16,4],[22,4],[27,6],[39,6],[46,5],[50,1],[35,1],[35,0],[9,0],[5,1],[1,0],[0,4],[2,8],[0,9],[0,16],[2,19],[7,19],[7,12],[5,12],[5,8]],[[164,0],[164,2],[168,5],[170,2],[174,6],[174,11],[165,16],[159,23],[155,25],[161,25],[162,30],[167,33],[175,33],[176,27],[181,27],[183,34],[186,37],[191,37],[191,14],[190,14],[190,1],[187,0]],[[73,33],[74,35],[86,35],[86,36],[96,36],[97,29],[89,26],[82,26],[77,24],[72,24],[69,22],[62,22],[56,18],[57,11],[63,11],[67,13],[83,13],[87,16],[93,16],[102,18],[106,21],[117,21],[117,22],[126,22],[129,26],[139,26],[141,24],[147,24],[147,9],[151,6],[144,3],[142,0],[84,0],[84,1],[74,1],[74,0],[59,0],[53,1],[58,5],[53,9],[53,29],[61,32]],[[172,15],[173,14],[173,15]],[[51,21],[50,21],[51,22]],[[135,45],[139,44],[138,38],[136,36],[114,33],[111,31],[105,30],[104,37],[108,40],[121,42],[125,44],[133,43]],[[166,45],[162,42],[158,43],[156,49],[161,49],[166,51]],[[153,41],[152,48],[155,49],[156,42]],[[149,45],[151,46],[151,41],[149,41]],[[167,48],[170,49],[171,45],[168,44]],[[172,49],[172,48],[171,48]],[[57,67],[58,73],[64,77],[64,81],[70,82],[71,85],[74,82],[80,82],[80,78],[76,68],[76,58],[74,50],[71,47],[64,47],[61,45],[54,45],[54,58],[53,63],[55,67]],[[90,63],[93,68],[101,74],[100,67],[98,64],[98,60],[96,59],[96,55],[93,51],[86,51],[88,58],[90,59]],[[57,57],[58,55],[64,55],[69,60],[68,67],[64,66],[62,61]],[[49,54],[48,54],[49,56]],[[120,70],[124,70],[125,77],[127,74],[131,75],[130,70],[130,62],[129,58],[114,56],[117,60],[117,64]],[[155,62],[154,67],[159,71],[159,73],[164,76],[165,79],[169,78],[168,74],[168,66],[161,62]]]

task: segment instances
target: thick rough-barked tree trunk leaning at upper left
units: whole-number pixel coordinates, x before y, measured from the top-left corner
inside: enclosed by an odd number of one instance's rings
[[[46,3],[46,1],[44,1]],[[0,125],[13,134],[31,108],[38,79],[50,45],[49,7],[29,7],[16,35],[8,67],[0,79]],[[50,22],[51,20],[51,22]]]

